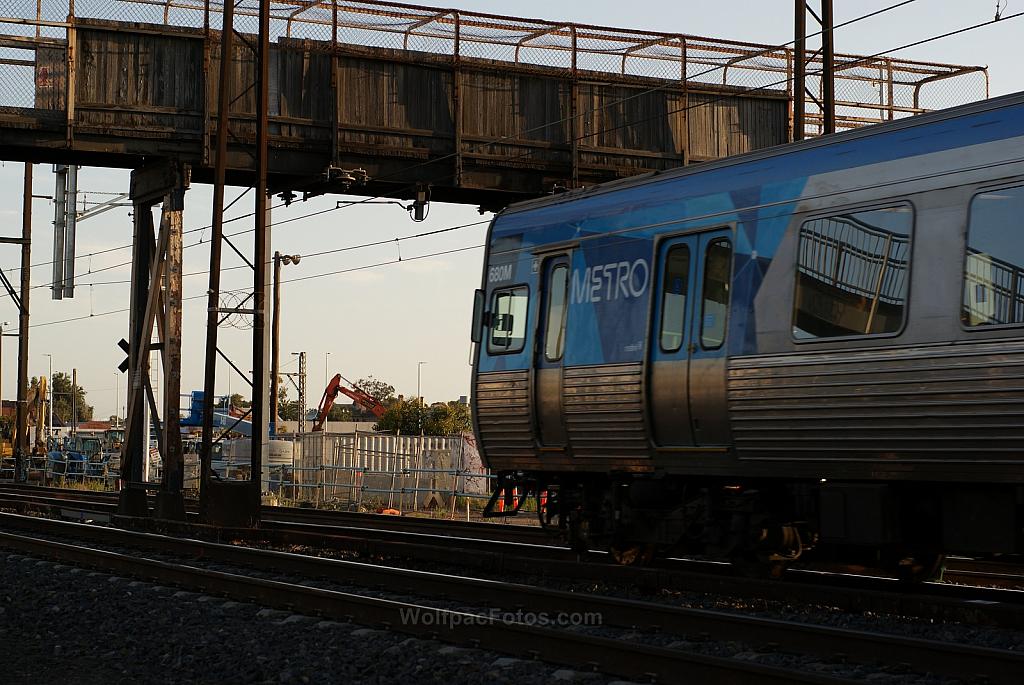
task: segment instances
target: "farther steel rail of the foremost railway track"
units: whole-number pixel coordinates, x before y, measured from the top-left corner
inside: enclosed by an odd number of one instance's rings
[[[716,640],[745,642],[756,648],[771,645],[803,654],[834,657],[843,653],[853,660],[906,662],[920,671],[944,676],[977,678],[993,683],[1016,683],[1024,670],[1024,654],[949,642],[836,629],[799,622],[691,609],[653,602],[618,599],[536,586],[454,576],[430,571],[380,566],[349,560],[257,550],[236,545],[181,540],[167,536],[129,532],[114,528],[24,519],[0,515],[5,526],[35,532],[56,532],[89,542],[141,548],[151,552],[191,556],[206,561],[250,566],[313,577],[326,577],[395,593],[458,598],[478,606],[511,611],[585,614],[597,612],[602,625],[658,630],[680,635],[709,636]]]

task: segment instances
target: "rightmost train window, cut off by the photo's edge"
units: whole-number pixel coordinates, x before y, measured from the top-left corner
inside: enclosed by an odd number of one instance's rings
[[[964,262],[965,326],[1024,324],[1024,186],[971,201]]]

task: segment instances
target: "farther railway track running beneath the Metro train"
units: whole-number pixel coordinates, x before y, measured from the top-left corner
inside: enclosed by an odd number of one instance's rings
[[[14,488],[18,490],[17,487]],[[103,522],[114,516],[116,504],[109,495],[38,488],[33,493],[0,487],[0,505],[19,510],[42,508],[66,518]],[[270,518],[268,512],[279,518]],[[302,512],[293,518],[293,512]],[[582,560],[575,553],[546,544],[501,540],[508,528],[470,523],[450,529],[450,521],[409,519],[374,514],[350,514],[345,521],[336,512],[267,508],[262,527],[216,529],[195,524],[155,523],[150,519],[121,522],[150,530],[176,532],[210,540],[233,540],[276,549],[301,549],[310,554],[348,553],[365,559],[404,559],[415,563],[473,569],[493,577],[563,579],[577,583],[636,588],[649,592],[665,589],[709,593],[748,600],[821,605],[857,613],[885,613],[925,619],[951,620],[1024,629],[1024,592],[977,587],[983,571],[967,585],[929,583],[908,591],[891,579],[814,570],[791,570],[784,581],[737,577],[728,564],[669,559],[654,566],[618,566],[604,555]],[[316,522],[309,522],[315,520]],[[406,525],[414,521],[413,529]],[[472,534],[456,534],[467,530]],[[513,538],[521,531],[513,530]],[[484,537],[485,536],[485,537]],[[494,537],[492,537],[494,536]],[[457,561],[456,561],[457,560]],[[984,566],[982,566],[984,567]],[[1005,570],[1005,569],[1002,569]],[[955,571],[953,571],[955,573]]]

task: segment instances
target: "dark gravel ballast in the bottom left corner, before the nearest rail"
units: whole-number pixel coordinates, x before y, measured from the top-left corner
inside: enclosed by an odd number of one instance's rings
[[[616,679],[0,551],[6,685]]]

